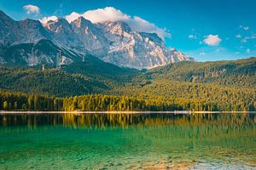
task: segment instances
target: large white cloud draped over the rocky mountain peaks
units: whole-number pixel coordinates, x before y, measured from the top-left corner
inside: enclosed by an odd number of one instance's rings
[[[104,21],[125,21],[132,30],[135,31],[144,31],[148,33],[156,33],[162,39],[166,37],[171,37],[171,34],[166,31],[166,29],[161,29],[158,26],[155,26],[153,23],[143,20],[138,16],[130,16],[124,14],[119,9],[113,7],[98,8],[96,10],[89,10],[84,12],[84,14],[71,13],[65,18],[68,22],[72,22],[83,16],[86,20],[90,20],[92,23],[104,22]]]

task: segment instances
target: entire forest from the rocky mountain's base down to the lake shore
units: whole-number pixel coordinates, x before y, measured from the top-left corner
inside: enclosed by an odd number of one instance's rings
[[[2,65],[0,79],[6,110],[256,110],[256,58],[136,71],[91,56],[61,70]]]

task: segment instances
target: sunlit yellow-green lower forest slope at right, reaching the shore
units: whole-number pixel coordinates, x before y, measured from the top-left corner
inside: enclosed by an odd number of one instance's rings
[[[216,83],[156,80],[145,86],[115,88],[112,93],[137,96],[149,105],[162,105],[161,111],[254,111],[256,108],[256,89],[224,87]]]

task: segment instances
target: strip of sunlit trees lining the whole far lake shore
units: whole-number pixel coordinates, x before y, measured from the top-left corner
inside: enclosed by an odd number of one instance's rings
[[[214,89],[214,87],[212,87]],[[194,89],[191,88],[191,91]],[[203,88],[206,93],[207,88]],[[141,93],[143,93],[142,91]],[[136,96],[81,95],[74,97],[50,97],[37,94],[0,92],[0,110],[10,111],[255,111],[255,96],[245,92],[225,93],[214,99],[184,98],[168,95],[137,94]],[[236,94],[238,93],[238,94]],[[241,93],[241,94],[239,94]],[[198,94],[201,94],[199,92]],[[208,93],[211,94],[211,93]],[[212,95],[212,94],[211,94]],[[233,97],[233,95],[235,97]]]

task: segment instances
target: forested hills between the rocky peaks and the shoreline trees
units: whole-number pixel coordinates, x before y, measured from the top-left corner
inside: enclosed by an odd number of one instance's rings
[[[62,65],[61,70],[51,69],[51,65],[46,65],[45,71],[41,71],[41,66],[24,68],[2,65],[0,88],[57,96],[137,95],[145,90],[143,94],[157,96],[183,94],[181,87],[188,86],[189,89],[190,86],[198,87],[202,84],[199,87],[237,88],[241,91],[247,89],[255,93],[255,60],[256,58],[206,63],[180,62],[149,71],[137,71],[120,68],[87,55],[84,62],[74,59],[72,64]],[[177,87],[181,83],[183,86]],[[192,96],[199,96],[195,91],[191,93]]]

